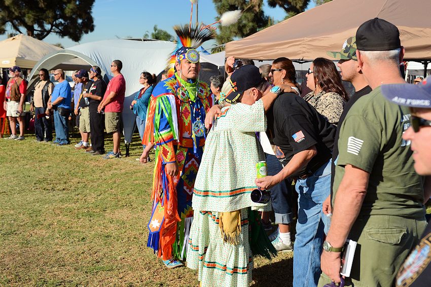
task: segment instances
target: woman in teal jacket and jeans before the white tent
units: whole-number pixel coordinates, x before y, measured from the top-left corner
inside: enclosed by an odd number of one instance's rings
[[[148,103],[153,92],[154,82],[155,80],[150,73],[146,71],[142,72],[139,77],[139,84],[143,85],[143,88],[136,93],[130,104],[130,109],[136,115],[136,126],[141,140],[143,131],[145,130],[145,119],[147,118]],[[145,149],[145,146],[142,147]]]

